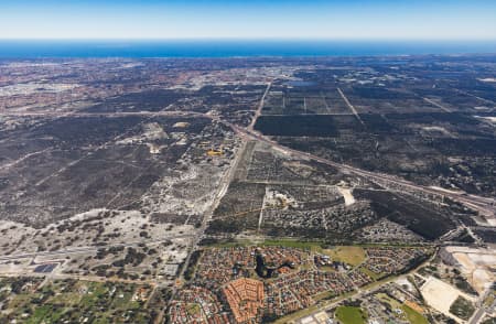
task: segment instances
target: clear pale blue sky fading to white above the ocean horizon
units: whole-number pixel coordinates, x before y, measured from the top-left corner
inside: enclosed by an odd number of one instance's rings
[[[0,0],[0,39],[496,40],[496,1]]]

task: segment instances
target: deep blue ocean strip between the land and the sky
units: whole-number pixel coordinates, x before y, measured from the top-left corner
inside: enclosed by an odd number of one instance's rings
[[[496,41],[1,41],[1,58],[493,54]]]

